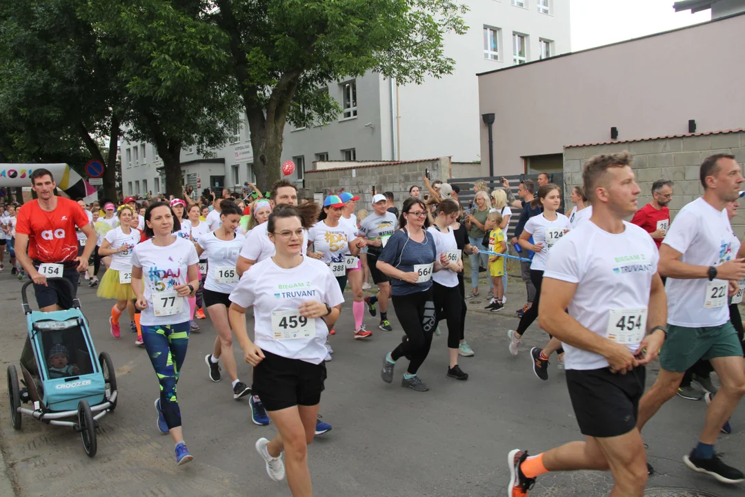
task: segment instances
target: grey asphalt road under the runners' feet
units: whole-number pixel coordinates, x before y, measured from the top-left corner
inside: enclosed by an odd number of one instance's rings
[[[17,364],[25,340],[25,319],[19,295],[21,283],[6,269],[0,273],[0,333],[2,365]],[[482,287],[482,292],[484,287]],[[215,332],[209,320],[191,335],[178,388],[183,429],[194,462],[177,467],[168,436],[156,430],[153,399],[156,376],[134,336],[109,333],[109,301],[80,287],[83,311],[92,326],[98,351],[112,355],[119,402],[104,417],[98,434],[98,455],[87,458],[80,438],[69,428],[44,425],[25,417],[22,431],[10,425],[5,382],[0,382],[0,444],[7,477],[19,496],[288,496],[285,482],[274,483],[264,472],[254,443],[271,437],[272,425],[250,421],[247,399],[232,399],[226,379],[215,384],[207,377],[204,355],[212,349]],[[347,294],[351,301],[351,296]],[[535,454],[581,435],[565,388],[562,370],[550,367],[541,382],[530,368],[529,349],[547,335],[536,327],[525,335],[520,354],[507,350],[506,331],[515,327],[513,310],[522,305],[522,282],[510,280],[510,301],[501,314],[469,311],[466,338],[475,357],[461,358],[471,375],[466,382],[446,378],[446,325],[435,338],[419,376],[430,391],[400,387],[404,364],[393,384],[380,379],[384,353],[399,342],[402,331],[391,309],[394,331],[374,329],[368,341],[352,339],[351,304],[345,303],[332,337],[334,361],[321,400],[323,420],[333,430],[317,437],[309,449],[316,496],[507,496],[507,452],[519,447]],[[472,308],[486,305],[483,298]],[[126,320],[126,314],[122,323]],[[253,321],[249,318],[250,321]],[[249,323],[249,329],[251,329]],[[124,330],[124,326],[122,327]],[[236,347],[239,376],[250,379],[250,367]],[[655,367],[647,374],[656,377]],[[657,474],[648,488],[685,487],[721,497],[742,496],[743,485],[724,486],[691,472],[682,463],[703,426],[706,405],[675,398],[647,425],[644,440]],[[723,435],[717,451],[735,466],[745,466],[745,416],[732,418],[734,433]],[[606,496],[609,474],[574,472],[539,478],[530,496]],[[7,492],[2,492],[4,496]],[[651,494],[650,494],[651,495]],[[682,490],[669,495],[683,495]]]

